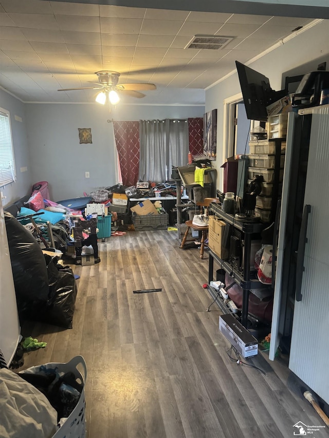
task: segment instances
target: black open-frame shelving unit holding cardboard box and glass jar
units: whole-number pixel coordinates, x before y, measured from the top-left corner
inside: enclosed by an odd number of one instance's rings
[[[252,278],[250,271],[250,252],[251,252],[251,242],[252,236],[261,233],[267,224],[262,222],[245,222],[235,219],[233,215],[223,212],[220,206],[217,204],[212,204],[210,211],[217,217],[224,220],[226,223],[232,225],[237,230],[241,231],[244,236],[244,257],[243,257],[243,271],[234,269],[229,261],[222,260],[218,257],[212,250],[209,250],[209,268],[208,268],[208,290],[215,298],[217,293],[210,286],[210,282],[213,280],[213,267],[214,260],[224,269],[228,274],[232,275],[236,283],[239,284],[243,290],[243,301],[242,301],[242,314],[241,323],[247,328],[248,325],[248,305],[249,305],[249,291],[250,289],[261,289],[268,288],[268,285],[261,283],[257,276]],[[229,313],[230,310],[226,304],[222,301],[218,301],[218,305],[221,310],[225,313]]]

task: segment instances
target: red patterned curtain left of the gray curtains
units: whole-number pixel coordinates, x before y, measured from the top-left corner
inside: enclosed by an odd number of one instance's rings
[[[113,122],[122,184],[136,185],[139,170],[139,122]]]

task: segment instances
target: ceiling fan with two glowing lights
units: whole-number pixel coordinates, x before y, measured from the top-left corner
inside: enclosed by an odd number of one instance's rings
[[[119,94],[126,94],[134,98],[143,98],[145,94],[140,90],[155,90],[156,86],[149,83],[130,83],[118,84],[120,73],[111,70],[96,71],[98,81],[92,82],[98,85],[97,87],[81,87],[81,88],[61,88],[58,91],[72,91],[72,90],[102,90],[96,96],[96,102],[105,104],[106,100],[109,103],[116,105],[120,101]]]

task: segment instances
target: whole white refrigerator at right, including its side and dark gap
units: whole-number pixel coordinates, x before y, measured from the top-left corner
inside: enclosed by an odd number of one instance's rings
[[[329,105],[288,118],[270,359],[329,403]],[[288,340],[287,340],[288,339]]]

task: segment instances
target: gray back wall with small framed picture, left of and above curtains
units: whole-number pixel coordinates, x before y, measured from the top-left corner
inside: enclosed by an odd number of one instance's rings
[[[26,104],[32,177],[48,181],[54,201],[116,184],[112,120],[203,117],[203,106]],[[92,144],[79,144],[78,128],[92,128]],[[85,178],[85,172],[90,178]]]

